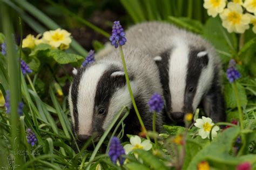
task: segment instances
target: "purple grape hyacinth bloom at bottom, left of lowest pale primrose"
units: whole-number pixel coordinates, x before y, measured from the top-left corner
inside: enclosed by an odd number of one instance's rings
[[[112,137],[110,141],[109,157],[113,164],[116,164],[117,160],[119,160],[120,165],[123,165],[125,158],[122,157],[122,155],[125,155],[124,147],[117,137]]]

